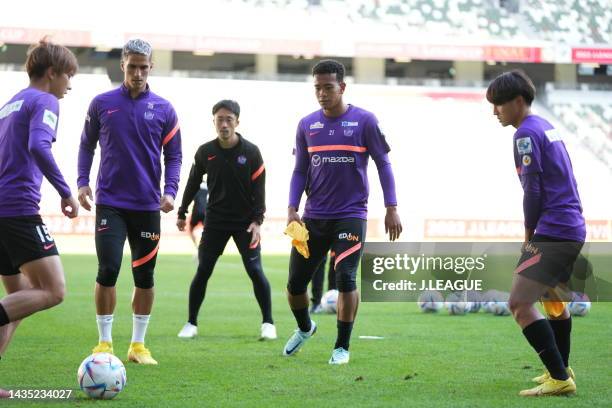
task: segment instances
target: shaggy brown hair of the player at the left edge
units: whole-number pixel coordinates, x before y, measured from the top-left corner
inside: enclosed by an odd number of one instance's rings
[[[27,52],[25,69],[30,79],[42,78],[49,67],[57,74],[76,74],[79,64],[76,57],[63,45],[53,44],[46,38],[30,46]]]

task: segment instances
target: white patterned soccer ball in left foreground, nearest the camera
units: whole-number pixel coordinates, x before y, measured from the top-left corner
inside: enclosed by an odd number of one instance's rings
[[[121,360],[109,353],[95,353],[83,360],[77,380],[91,398],[111,399],[123,390],[127,377]]]

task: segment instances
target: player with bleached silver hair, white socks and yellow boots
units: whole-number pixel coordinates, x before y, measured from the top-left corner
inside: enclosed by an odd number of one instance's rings
[[[113,352],[111,329],[116,304],[115,284],[127,236],[132,252],[133,331],[128,360],[157,364],[144,346],[153,307],[153,270],[160,239],[159,210],[174,208],[181,167],[181,132],[174,108],[149,89],[153,68],[151,46],[140,39],[123,47],[124,82],[96,96],[89,106],[81,136],[78,163],[79,201],[86,210],[93,200],[89,172],[100,144],[96,183],[95,302],[99,343],[94,352]],[[165,186],[160,191],[161,153]]]

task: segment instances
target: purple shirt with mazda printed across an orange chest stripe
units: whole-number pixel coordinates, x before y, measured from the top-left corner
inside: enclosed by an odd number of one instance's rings
[[[326,117],[322,110],[306,116],[296,133],[289,206],[299,208],[306,191],[305,217],[366,219],[370,156],[378,169],[385,206],[397,205],[389,151],[378,120],[364,109],[348,105],[337,118]]]

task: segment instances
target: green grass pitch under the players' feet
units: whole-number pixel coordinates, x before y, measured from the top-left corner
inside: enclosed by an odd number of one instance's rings
[[[7,406],[394,406],[604,407],[612,404],[612,304],[574,318],[572,367],[578,395],[525,400],[520,389],[541,372],[539,360],[511,317],[482,312],[426,315],[414,303],[362,303],[348,366],[327,364],[336,333],[331,315],[291,358],[282,347],[295,328],[285,299],[288,258],[265,256],[279,339],[259,342],[260,314],[239,257],[217,264],[200,312],[200,335],[177,338],[186,321],[191,256],[160,256],[147,345],[159,366],[126,364],[127,386],[109,402],[87,399],[76,371],[97,342],[93,256],[64,255],[68,294],[60,306],[19,327],[0,362],[0,386],[74,390],[63,402],[8,401]],[[128,259],[118,283],[113,340],[125,360],[131,323]],[[3,292],[0,291],[0,293]],[[382,336],[362,340],[359,336]]]

